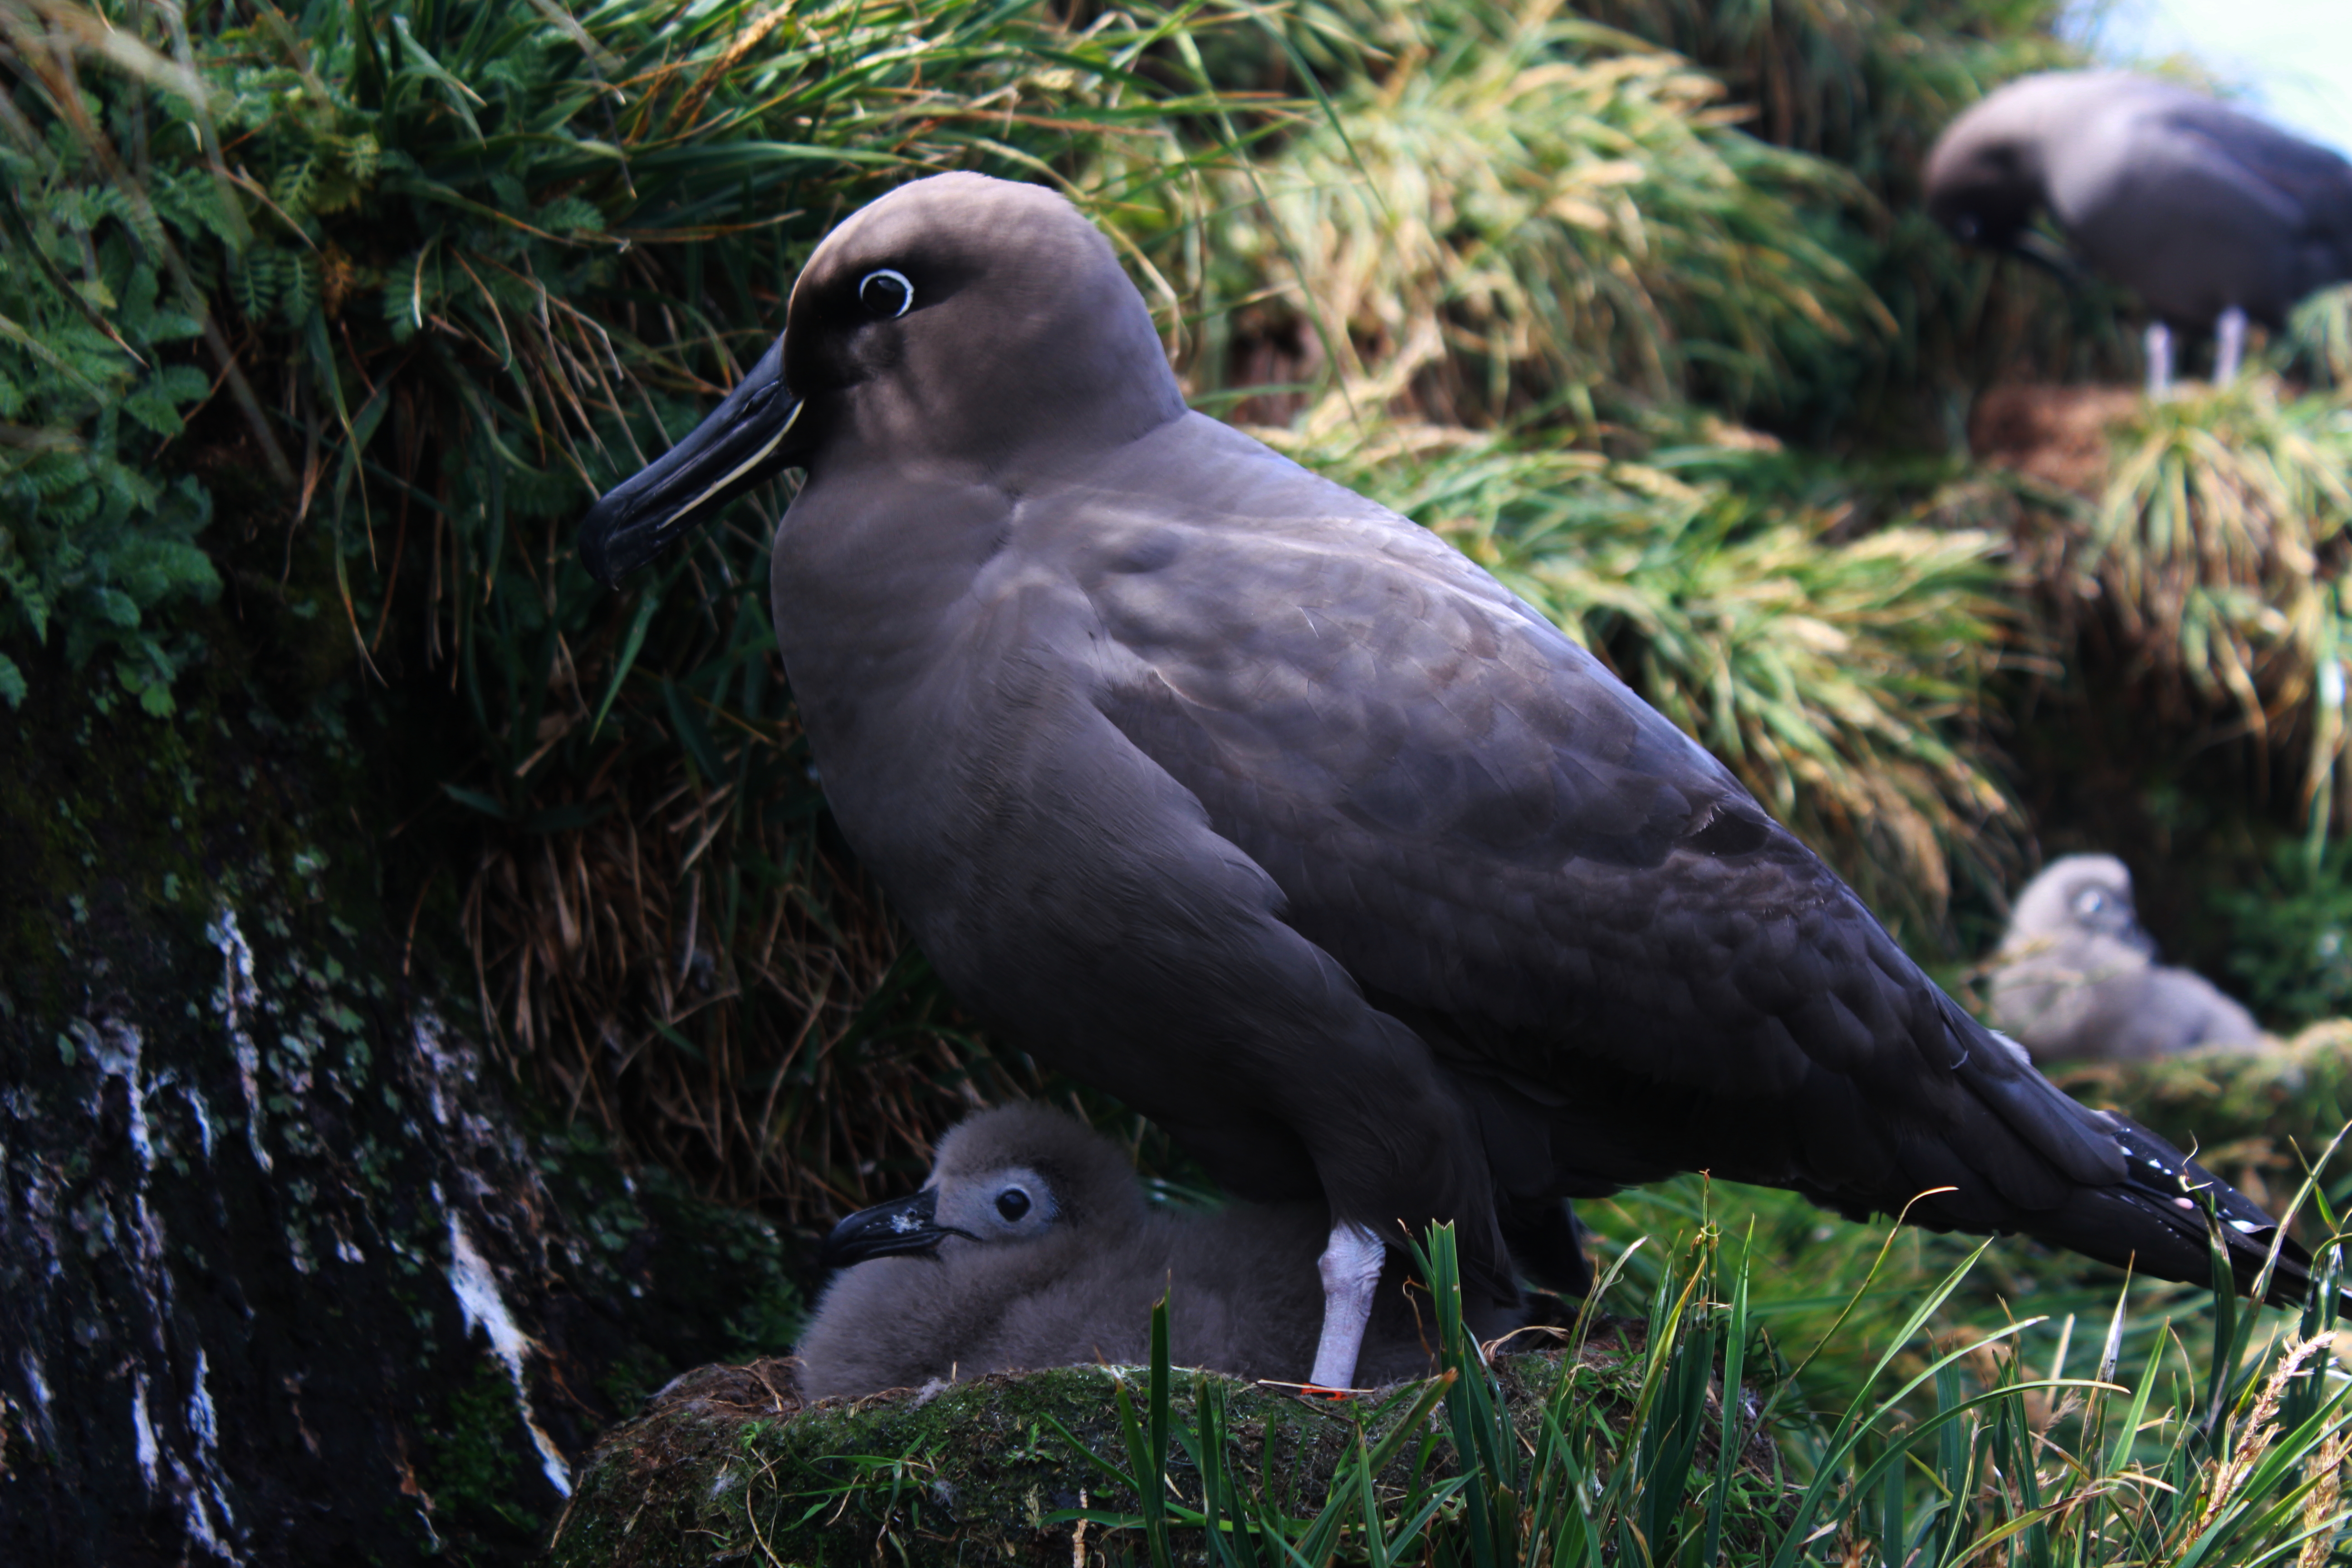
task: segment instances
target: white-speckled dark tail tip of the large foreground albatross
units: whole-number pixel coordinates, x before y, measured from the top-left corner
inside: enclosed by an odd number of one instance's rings
[[[2124,1150],[2126,1175],[2112,1187],[2079,1187],[2063,1206],[2034,1215],[2030,1232],[2063,1248],[2131,1267],[2159,1279],[2201,1284],[2213,1276],[2213,1227],[2206,1225],[2211,1199],[2230,1274],[2241,1293],[2253,1293],[2270,1267],[2265,1300],[2272,1307],[2300,1307],[2312,1291],[2312,1255],[2253,1199],[2220,1180],[2164,1138],[2124,1117],[2096,1112],[2114,1128]],[[2272,1265],[2272,1253],[2277,1262]],[[2338,1312],[2352,1316],[2352,1291]]]

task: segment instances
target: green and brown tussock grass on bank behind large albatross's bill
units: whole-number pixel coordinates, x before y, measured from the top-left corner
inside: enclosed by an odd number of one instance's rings
[[[325,536],[355,682],[435,710],[426,825],[459,846],[461,926],[508,1058],[623,1147],[809,1220],[922,1168],[969,1074],[1035,1088],[946,1016],[830,839],[753,508],[621,597],[569,538],[597,489],[764,348],[816,237],[901,179],[1063,183],[1117,216],[1174,320],[1152,256],[1181,275],[1195,162],[1268,120],[1169,45],[1221,19],[894,0],[40,7],[0,33],[0,139],[42,172],[12,212],[49,266],[0,266],[42,327],[160,273],[153,331],[125,320],[172,355],[155,407],[134,409],[146,447],[40,480],[61,496],[56,559],[108,543],[82,520],[136,510],[129,458],[165,440],[198,473],[240,475],[238,531]],[[1185,139],[1195,122],[1230,139]],[[122,357],[78,329],[75,353]],[[181,362],[183,339],[214,360]],[[125,362],[118,378],[139,393],[141,376]],[[73,397],[54,418],[115,428],[59,386]],[[85,440],[61,428],[0,458],[56,468]],[[132,543],[200,567],[193,527],[158,515]],[[94,625],[136,623],[167,588],[94,597]],[[155,665],[125,684],[167,710]]]

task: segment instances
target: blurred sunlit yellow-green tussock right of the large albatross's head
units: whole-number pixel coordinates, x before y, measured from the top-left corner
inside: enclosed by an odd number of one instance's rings
[[[1221,252],[1331,357],[1324,418],[1590,425],[1693,369],[1769,404],[1792,362],[1891,329],[1825,240],[1860,188],[1722,129],[1715,78],[1557,2],[1369,9],[1385,59],[1221,179]]]

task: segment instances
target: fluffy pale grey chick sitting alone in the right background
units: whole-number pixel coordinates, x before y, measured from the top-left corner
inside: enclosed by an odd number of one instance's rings
[[[2258,1048],[2263,1030],[2204,976],[2154,961],[2114,856],[2065,856],[2025,884],[1992,954],[1992,1025],[2034,1060]]]

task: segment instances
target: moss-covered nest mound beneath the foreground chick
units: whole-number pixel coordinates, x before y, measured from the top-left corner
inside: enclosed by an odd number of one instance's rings
[[[1515,1429],[1534,1439],[1562,1375],[1566,1408],[1623,1429],[1644,1371],[1639,1342],[1639,1326],[1625,1326],[1597,1335],[1573,1363],[1566,1352],[1501,1356],[1498,1382]],[[1112,1474],[1131,1474],[1115,1385],[1143,1408],[1145,1378],[1131,1366],[1073,1366],[804,1408],[790,1361],[703,1368],[597,1446],[550,1559],[562,1568],[736,1559],[818,1568],[870,1563],[877,1552],[880,1561],[910,1568],[1129,1561],[1141,1556],[1141,1533],[1082,1514],[1134,1516],[1138,1507]],[[1197,1432],[1209,1382],[1223,1392],[1230,1474],[1291,1519],[1317,1514],[1359,1436],[1378,1446],[1411,1415],[1418,1392],[1416,1385],[1392,1396],[1329,1401],[1176,1371],[1174,1429]],[[1710,1401],[1708,1427],[1717,1422]],[[1423,1415],[1423,1432],[1381,1472],[1383,1509],[1456,1474],[1442,1406]],[[1712,1465],[1712,1443],[1700,1443],[1693,1469]],[[1755,1537],[1757,1514],[1783,1497],[1766,1439],[1750,1439],[1738,1476],[1729,1530]],[[1174,1502],[1200,1505],[1200,1472],[1181,1441],[1171,1446],[1167,1481]],[[1439,1526],[1458,1514],[1456,1502]],[[1174,1547],[1178,1561],[1202,1561],[1197,1530],[1178,1528]]]

